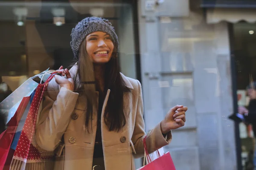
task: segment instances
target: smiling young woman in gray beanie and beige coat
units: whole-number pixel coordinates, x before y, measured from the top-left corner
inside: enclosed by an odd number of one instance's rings
[[[62,66],[45,93],[36,129],[38,145],[55,150],[64,143],[64,170],[134,170],[134,157],[172,139],[172,129],[184,125],[186,107],[176,105],[148,134],[138,80],[119,72],[119,43],[108,20],[88,17],[72,33],[76,64]],[[158,114],[158,113],[156,113]],[[57,168],[58,169],[58,168]]]

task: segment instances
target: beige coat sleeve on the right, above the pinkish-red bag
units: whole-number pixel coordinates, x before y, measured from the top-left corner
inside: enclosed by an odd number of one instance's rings
[[[143,120],[143,97],[142,97],[142,89],[141,84],[138,82],[138,89],[139,89],[139,97],[137,102],[137,113],[134,125],[134,133],[132,135],[132,142],[134,144],[134,149],[136,151],[135,158],[140,158],[144,156],[144,146],[143,146],[143,139],[146,135],[145,133],[145,123]],[[161,132],[161,125],[160,123],[157,124],[154,129],[147,133],[146,143],[148,152],[152,153],[161,147],[169,144],[172,140],[172,132],[170,131],[164,137]]]

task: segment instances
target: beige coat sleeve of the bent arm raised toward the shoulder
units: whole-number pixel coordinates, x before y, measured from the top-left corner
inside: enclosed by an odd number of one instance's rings
[[[70,115],[73,112],[79,94],[66,88],[58,87],[55,79],[49,83],[42,103],[35,131],[38,145],[47,151],[53,151],[58,146],[67,128]]]

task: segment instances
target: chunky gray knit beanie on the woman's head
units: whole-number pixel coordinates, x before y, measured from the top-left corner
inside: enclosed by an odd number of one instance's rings
[[[75,28],[72,29],[70,42],[71,48],[74,53],[74,57],[78,59],[79,48],[88,34],[96,31],[102,31],[109,34],[112,38],[113,44],[116,48],[116,53],[119,51],[118,37],[115,33],[115,29],[112,24],[103,18],[99,17],[87,17],[81,20]]]

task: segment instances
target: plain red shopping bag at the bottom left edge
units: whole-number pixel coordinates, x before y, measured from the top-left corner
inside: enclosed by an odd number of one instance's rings
[[[17,125],[26,109],[26,106],[29,103],[29,99],[30,99],[30,96],[23,97],[19,107],[17,108],[17,111],[15,112],[11,120],[8,122],[7,129],[0,135],[0,169],[1,170],[3,169],[6,163],[6,159],[9,154],[9,150],[12,144],[14,134],[17,129]]]

